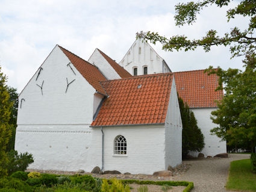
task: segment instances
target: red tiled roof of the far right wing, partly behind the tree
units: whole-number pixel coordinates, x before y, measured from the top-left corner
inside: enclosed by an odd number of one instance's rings
[[[218,86],[216,74],[207,75],[204,70],[175,72],[176,89],[189,108],[217,107],[216,100],[221,100],[223,91],[215,91]]]

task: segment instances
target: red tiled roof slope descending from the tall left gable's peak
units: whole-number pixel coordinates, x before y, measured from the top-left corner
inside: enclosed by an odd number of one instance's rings
[[[100,81],[107,80],[104,75],[98,70],[96,66],[93,66],[89,62],[83,60],[82,58],[76,56],[67,49],[62,48],[59,46],[60,49],[64,52],[64,54],[69,58],[73,66],[83,75],[86,81],[89,82],[92,87],[99,91],[102,94],[106,94],[104,88],[102,88]]]

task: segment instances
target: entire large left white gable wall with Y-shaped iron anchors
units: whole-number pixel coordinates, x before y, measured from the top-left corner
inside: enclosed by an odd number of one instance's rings
[[[92,128],[95,88],[72,65],[58,46],[19,96],[15,149],[33,154],[30,169],[67,170],[93,167]],[[67,87],[67,81],[75,81]],[[42,85],[43,95],[40,87]],[[21,99],[22,108],[20,108]],[[94,102],[96,102],[94,104]],[[99,152],[100,154],[101,152]]]

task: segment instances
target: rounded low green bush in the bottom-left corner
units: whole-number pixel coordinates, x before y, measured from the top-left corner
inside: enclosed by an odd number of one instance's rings
[[[16,178],[1,178],[0,188],[14,189],[23,192],[32,192],[30,185]]]

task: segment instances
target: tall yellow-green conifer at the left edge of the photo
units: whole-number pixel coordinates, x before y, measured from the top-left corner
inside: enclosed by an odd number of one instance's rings
[[[7,169],[4,169],[5,164],[8,162],[5,150],[11,136],[9,121],[11,107],[13,105],[13,103],[10,102],[6,81],[7,78],[4,73],[1,72],[0,67],[0,177],[7,175]]]

